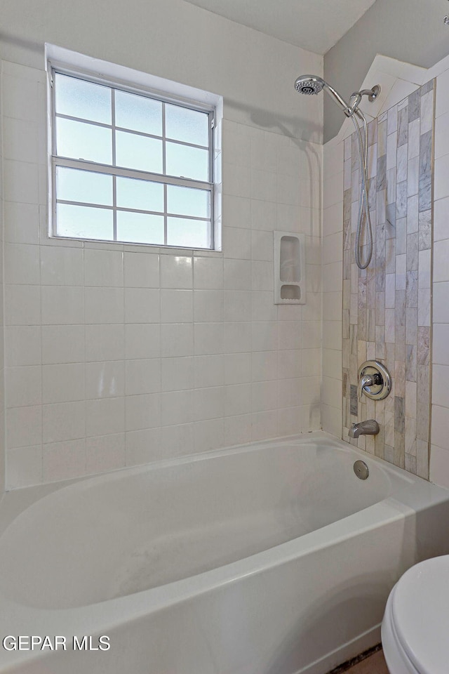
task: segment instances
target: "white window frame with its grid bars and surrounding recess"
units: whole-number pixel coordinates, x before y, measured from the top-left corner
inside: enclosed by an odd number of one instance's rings
[[[72,241],[79,242],[103,242],[107,244],[120,244],[120,245],[132,245],[132,246],[151,246],[152,248],[159,247],[163,249],[181,249],[185,248],[188,250],[199,250],[199,251],[220,251],[221,249],[221,232],[220,232],[220,210],[219,204],[220,201],[217,199],[217,194],[220,193],[220,184],[217,183],[217,180],[214,179],[217,173],[221,173],[217,162],[221,159],[221,153],[217,152],[217,140],[220,138],[220,131],[218,128],[217,121],[221,121],[222,117],[222,98],[216,95],[210,94],[208,92],[203,92],[198,89],[194,89],[185,85],[180,85],[172,81],[164,80],[159,77],[154,77],[147,75],[142,72],[134,71],[126,67],[116,66],[109,62],[93,60],[81,54],[76,54],[74,52],[69,52],[68,50],[55,47],[53,45],[46,45],[47,52],[47,72],[48,72],[48,122],[50,133],[48,136],[48,178],[49,178],[49,209],[51,217],[48,218],[48,236],[55,239],[70,239]],[[65,57],[64,60],[60,60],[60,56]],[[71,58],[67,59],[67,55]],[[72,63],[68,64],[67,61],[70,60]],[[95,71],[91,68],[86,69],[86,61],[89,65],[93,65],[92,62],[95,62]],[[101,67],[98,68],[98,66]],[[99,72],[100,71],[100,72]],[[103,84],[112,88],[112,91],[126,91],[128,93],[134,93],[137,95],[142,95],[147,98],[152,98],[153,100],[159,100],[161,103],[171,103],[174,105],[180,105],[181,107],[186,107],[189,110],[197,110],[199,112],[205,112],[209,117],[209,164],[208,164],[208,173],[209,180],[193,180],[190,178],[177,178],[176,176],[167,176],[164,173],[151,173],[147,171],[140,171],[137,169],[126,169],[119,166],[110,166],[106,164],[98,164],[94,161],[86,161],[83,159],[72,159],[69,157],[60,157],[56,154],[56,110],[55,110],[55,87],[53,86],[53,76],[54,73],[58,72],[61,74],[69,75],[70,77],[76,77],[83,81],[91,81],[95,84]],[[128,79],[123,79],[123,74],[128,76]],[[115,77],[116,75],[116,77]],[[156,86],[154,86],[156,84]],[[162,86],[165,91],[162,90]],[[186,95],[187,94],[187,95]],[[196,97],[193,96],[196,94]],[[199,95],[198,95],[199,94]],[[114,96],[114,93],[112,93]],[[192,96],[192,98],[190,98]],[[202,100],[201,100],[202,99]],[[218,120],[217,120],[218,118]],[[75,121],[88,122],[88,120],[68,117],[67,119],[74,119]],[[112,118],[111,125],[93,123],[94,126],[106,126],[107,128],[112,128],[114,131],[114,116]],[[221,127],[221,124],[220,124]],[[123,129],[124,131],[129,131],[128,129]],[[220,129],[221,130],[221,129]],[[151,135],[145,133],[138,133],[138,135],[152,138]],[[158,137],[159,139],[160,137]],[[165,124],[163,124],[163,169],[165,170],[165,148],[166,148],[166,136],[165,136]],[[169,139],[172,142],[172,139]],[[180,143],[180,145],[188,145],[189,147],[199,147],[193,143],[182,143],[182,141],[175,141]],[[115,160],[114,153],[114,133],[112,133],[112,143],[113,143],[113,164]],[[107,210],[112,210],[114,213],[114,239],[84,239],[78,237],[61,237],[55,232],[56,224],[56,206],[57,206],[57,195],[56,195],[56,169],[58,166],[67,167],[70,169],[82,169],[83,171],[93,171],[95,173],[105,173],[109,176],[121,176],[125,178],[135,178],[140,180],[149,180],[156,183],[162,183],[164,185],[164,212],[162,213],[164,218],[164,243],[163,244],[148,244],[145,242],[126,242],[116,239],[116,213],[118,211],[130,211],[138,213],[152,213],[152,211],[140,211],[138,209],[118,209],[116,206],[116,195],[114,190],[114,203],[113,206],[99,206],[98,204],[79,204],[78,202],[63,202],[71,203],[74,205],[83,205],[83,206],[94,206],[102,207]],[[218,170],[217,170],[218,169]],[[114,180],[115,183],[115,180]],[[166,191],[167,185],[176,185],[180,187],[194,187],[196,189],[205,190],[210,194],[210,246],[207,248],[199,248],[198,246],[179,246],[179,245],[168,245],[167,241],[167,218],[175,214],[167,213],[166,204]],[[158,215],[161,215],[161,212],[158,211]],[[208,220],[208,218],[198,218],[193,216],[181,216],[179,213],[176,214],[180,218],[191,219],[191,220]]]

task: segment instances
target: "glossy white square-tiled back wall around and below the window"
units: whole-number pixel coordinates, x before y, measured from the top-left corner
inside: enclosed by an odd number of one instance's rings
[[[8,487],[318,429],[321,145],[224,120],[223,253],[48,239],[45,73],[3,86]],[[306,234],[304,306],[273,230]]]

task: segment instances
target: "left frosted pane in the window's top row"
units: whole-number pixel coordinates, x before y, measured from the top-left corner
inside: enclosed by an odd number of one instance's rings
[[[57,114],[111,124],[111,95],[112,90],[109,86],[55,73]]]

